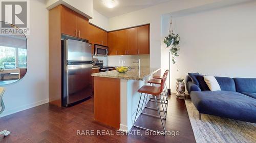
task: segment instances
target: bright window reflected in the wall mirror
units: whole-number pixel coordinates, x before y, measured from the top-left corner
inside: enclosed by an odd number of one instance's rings
[[[27,49],[0,46],[0,67],[27,68]]]

